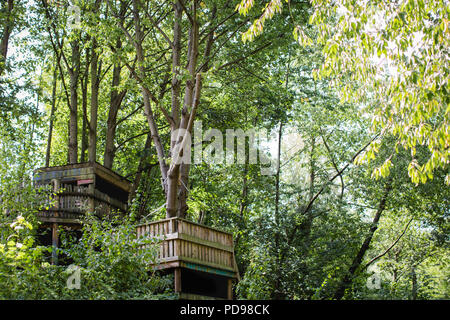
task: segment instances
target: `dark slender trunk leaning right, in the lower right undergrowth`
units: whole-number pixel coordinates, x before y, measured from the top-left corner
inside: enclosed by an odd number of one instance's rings
[[[364,258],[364,255],[366,254],[367,250],[370,247],[370,243],[372,241],[373,235],[375,231],[378,229],[378,221],[380,220],[381,214],[386,208],[386,202],[389,196],[389,193],[391,192],[392,186],[391,181],[388,180],[383,191],[383,195],[381,197],[380,203],[378,205],[377,212],[375,213],[375,216],[372,221],[372,226],[370,227],[369,233],[366,236],[366,239],[364,240],[363,244],[359,248],[358,253],[356,254],[355,258],[353,259],[352,264],[350,265],[350,268],[348,269],[347,273],[344,276],[344,279],[341,281],[341,283],[338,286],[338,289],[336,290],[334,294],[334,299],[340,300],[344,297],[345,290],[350,287],[353,281],[353,277],[355,276],[356,271],[361,265],[361,262]]]

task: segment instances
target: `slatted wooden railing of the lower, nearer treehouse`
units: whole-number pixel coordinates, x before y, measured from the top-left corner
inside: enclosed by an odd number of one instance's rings
[[[138,237],[162,240],[157,269],[194,264],[235,272],[233,236],[181,218],[170,218],[137,227]]]

